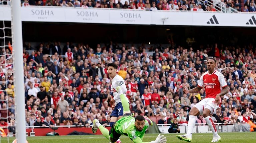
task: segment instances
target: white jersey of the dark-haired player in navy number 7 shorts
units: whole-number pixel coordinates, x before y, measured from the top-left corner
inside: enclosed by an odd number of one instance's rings
[[[127,92],[127,89],[126,89],[126,86],[124,84],[124,79],[118,74],[112,79],[111,83],[112,83],[111,84],[111,91],[113,92],[114,100],[115,100],[116,105],[117,105],[119,102],[121,102],[121,98],[120,98],[119,94],[116,91],[116,87],[121,86],[122,92],[123,92],[124,95]],[[126,97],[126,95],[125,95],[125,97]]]

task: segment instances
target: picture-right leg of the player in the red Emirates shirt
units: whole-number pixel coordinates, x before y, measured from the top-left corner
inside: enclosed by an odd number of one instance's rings
[[[214,100],[213,100],[214,101]],[[215,104],[215,101],[213,104],[211,103],[207,103],[206,106],[205,106],[205,109],[203,111],[203,117],[208,125],[208,127],[210,128],[210,130],[212,131],[213,133],[213,139],[212,139],[212,142],[219,142],[221,140],[220,136],[218,135],[217,133],[217,129],[214,125],[214,122],[212,120],[212,118],[210,117],[210,114],[213,113],[213,111],[218,108]]]

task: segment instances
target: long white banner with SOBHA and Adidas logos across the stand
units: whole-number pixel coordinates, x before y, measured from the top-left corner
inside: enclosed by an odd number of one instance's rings
[[[11,9],[0,6],[0,21],[11,20]],[[101,8],[22,7],[21,20],[132,25],[256,27],[254,13],[143,11]]]

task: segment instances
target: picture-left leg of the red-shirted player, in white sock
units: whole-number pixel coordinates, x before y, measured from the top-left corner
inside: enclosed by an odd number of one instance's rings
[[[187,142],[192,141],[192,133],[196,124],[196,116],[199,114],[203,114],[205,101],[200,101],[189,111],[189,120],[188,120],[188,131],[187,134],[184,135],[176,135],[176,137],[180,140],[184,140]]]

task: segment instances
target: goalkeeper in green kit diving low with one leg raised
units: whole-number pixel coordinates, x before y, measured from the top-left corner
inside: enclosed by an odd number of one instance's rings
[[[149,124],[153,125],[153,122],[148,117],[142,115],[138,115],[134,118],[133,113],[131,113],[129,109],[129,102],[124,96],[121,87],[118,86],[116,89],[124,108],[124,116],[114,123],[110,131],[103,127],[98,119],[94,119],[92,132],[96,133],[97,129],[100,129],[103,136],[111,141],[111,143],[115,143],[121,135],[128,136],[134,143],[166,143],[166,137],[164,137],[164,135],[160,136],[160,134],[155,141],[143,142],[145,131]]]

